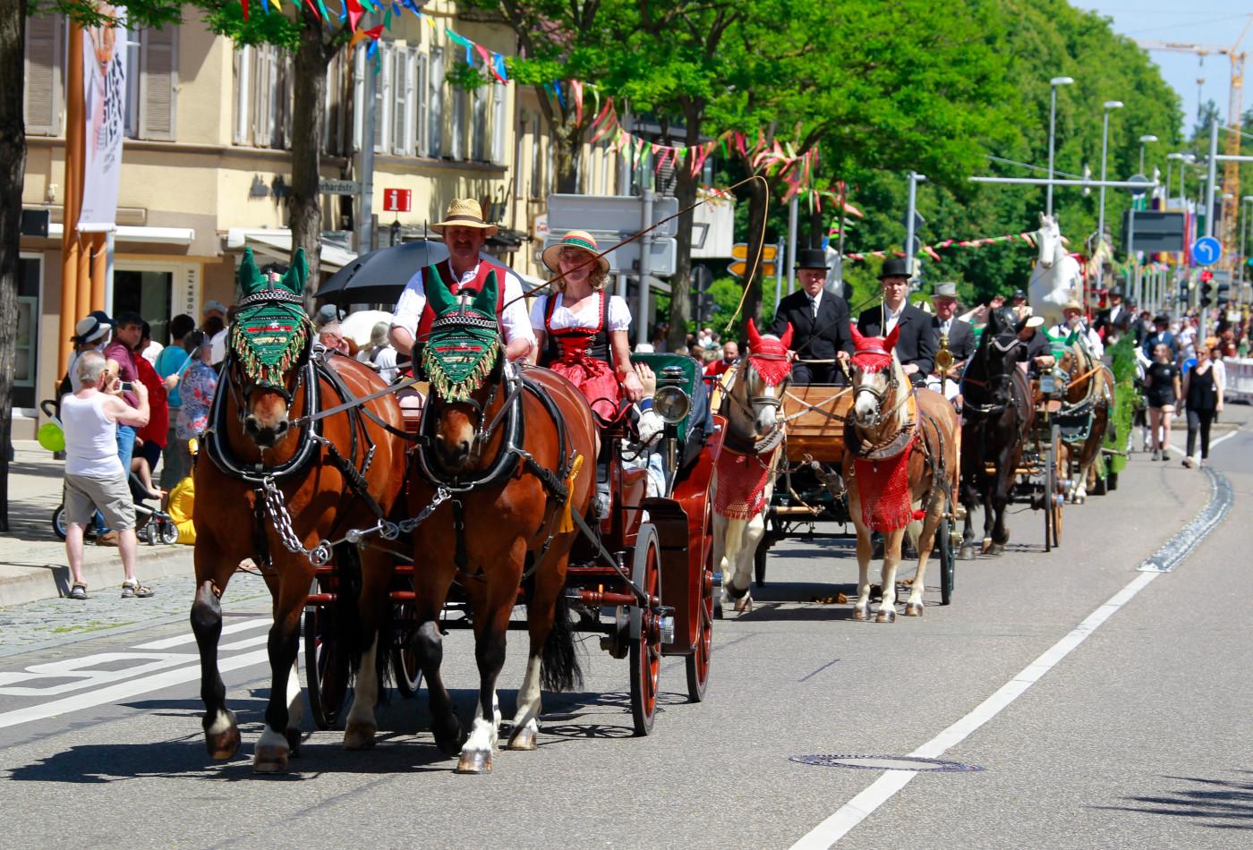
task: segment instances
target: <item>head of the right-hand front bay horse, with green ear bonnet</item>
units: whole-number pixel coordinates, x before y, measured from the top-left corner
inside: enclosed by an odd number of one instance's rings
[[[491,272],[477,293],[454,295],[439,274],[426,278],[436,317],[422,349],[422,369],[431,378],[431,447],[447,472],[460,473],[482,452],[499,409],[495,401],[505,371],[496,320],[499,282]]]

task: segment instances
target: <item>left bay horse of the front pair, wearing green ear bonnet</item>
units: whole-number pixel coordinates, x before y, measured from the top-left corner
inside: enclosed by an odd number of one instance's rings
[[[296,657],[312,558],[331,556],[325,541],[337,541],[387,516],[400,496],[405,454],[382,427],[402,427],[392,396],[317,422],[306,418],[385,384],[363,364],[313,344],[299,300],[303,254],[297,252],[287,275],[272,282],[246,253],[239,282],[244,298],[195,464],[192,630],[200,652],[205,745],[212,757],[231,759],[239,747],[239,729],[234,712],[226,707],[218,672],[221,598],[242,561],[258,565],[273,597],[274,625],[268,641],[269,702],[253,770],[268,772],[286,769],[288,755],[299,745],[303,704]],[[337,546],[335,555],[340,568],[355,572],[356,547]],[[341,638],[350,647],[368,642],[372,638],[362,636],[377,631],[392,571],[391,556],[381,551],[361,550],[360,558],[360,602],[352,595],[343,600],[346,606],[360,606],[361,631],[346,631]],[[343,620],[353,623],[358,617]]]

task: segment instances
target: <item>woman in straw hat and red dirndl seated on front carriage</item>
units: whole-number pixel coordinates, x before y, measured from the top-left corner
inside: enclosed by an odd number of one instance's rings
[[[605,292],[609,260],[599,253],[583,230],[544,250],[544,264],[560,277],[531,307],[531,327],[539,364],[575,384],[604,427],[621,417],[624,398],[644,397],[644,384],[630,363],[630,308]]]

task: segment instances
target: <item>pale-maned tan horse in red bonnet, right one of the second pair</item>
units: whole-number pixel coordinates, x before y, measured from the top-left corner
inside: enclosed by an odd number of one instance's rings
[[[905,615],[922,616],[922,590],[936,528],[957,491],[957,414],[940,393],[913,389],[886,339],[863,337],[852,325],[853,411],[845,428],[843,476],[857,528],[857,602],[853,620],[870,620],[871,532],[883,533],[883,600],[875,622],[896,620],[896,566],[901,540],[922,520],[918,570]],[[863,507],[866,508],[863,511]]]

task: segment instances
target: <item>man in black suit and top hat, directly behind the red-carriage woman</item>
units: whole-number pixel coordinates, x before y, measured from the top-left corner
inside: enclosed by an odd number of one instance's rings
[[[796,278],[801,289],[779,302],[771,333],[782,337],[792,324],[792,351],[797,361],[831,361],[792,366],[793,383],[840,383],[843,372],[836,361],[853,353],[848,329],[848,304],[823,289],[827,283],[827,255],[819,248],[797,252]]]

